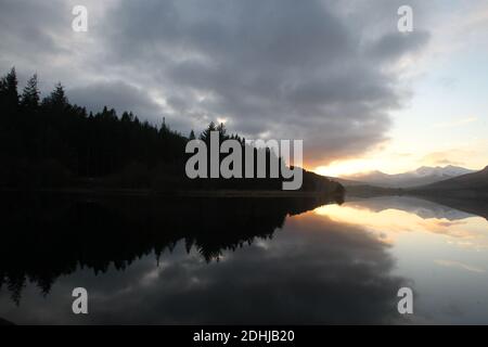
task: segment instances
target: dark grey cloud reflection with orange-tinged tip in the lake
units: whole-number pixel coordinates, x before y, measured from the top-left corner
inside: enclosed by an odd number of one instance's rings
[[[172,254],[164,254],[165,266],[158,270],[145,257],[125,272],[102,277],[79,272],[60,279],[46,299],[27,288],[23,307],[9,318],[46,322],[42,311],[49,307],[56,323],[391,323],[399,319],[396,294],[404,280],[391,274],[394,259],[385,244],[357,226],[313,214],[293,217],[267,248],[253,244],[226,252],[232,256],[224,262],[202,262],[183,248],[180,244]],[[89,288],[92,298],[90,314],[82,321],[60,309],[69,305],[63,293],[74,285]]]

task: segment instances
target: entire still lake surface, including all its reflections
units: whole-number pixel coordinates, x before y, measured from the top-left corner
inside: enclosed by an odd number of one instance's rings
[[[2,203],[14,323],[488,323],[488,222],[413,197]],[[414,313],[397,292],[414,292]],[[72,312],[72,291],[89,314]]]

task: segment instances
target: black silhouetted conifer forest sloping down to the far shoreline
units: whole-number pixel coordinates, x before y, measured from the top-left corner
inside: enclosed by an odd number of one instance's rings
[[[15,68],[0,80],[0,185],[17,189],[52,187],[116,187],[175,189],[281,190],[282,179],[187,178],[185,145],[195,139],[160,126],[141,121],[131,112],[117,115],[104,107],[93,114],[72,104],[61,83],[41,99],[34,75],[18,92]],[[210,131],[219,140],[234,139],[223,124],[210,124],[198,138],[209,142]],[[267,162],[274,155],[266,151]],[[255,155],[257,157],[257,155]],[[255,165],[256,167],[256,165]],[[336,184],[336,183],[334,183]],[[306,172],[305,190],[335,191],[325,178]]]

